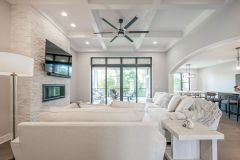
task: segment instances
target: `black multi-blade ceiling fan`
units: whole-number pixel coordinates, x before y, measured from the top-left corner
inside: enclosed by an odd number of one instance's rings
[[[116,31],[115,32],[98,32],[98,33],[94,33],[94,34],[115,34],[115,37],[113,37],[113,39],[110,42],[113,42],[117,37],[119,36],[123,36],[126,39],[128,39],[130,42],[133,42],[133,40],[127,35],[127,34],[133,34],[133,33],[149,33],[149,31],[128,31],[127,29],[138,19],[138,17],[134,17],[130,22],[128,22],[128,24],[126,26],[122,26],[123,23],[123,19],[120,18],[118,20],[118,22],[120,23],[120,27],[117,28],[115,27],[112,23],[110,23],[109,21],[107,21],[105,18],[102,18],[102,20],[107,23],[108,25],[110,25],[112,28],[114,28]]]

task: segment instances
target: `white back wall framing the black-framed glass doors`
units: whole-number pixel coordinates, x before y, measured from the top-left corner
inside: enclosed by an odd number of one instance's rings
[[[153,92],[168,90],[167,63],[165,53],[78,53],[77,93],[82,101],[91,100],[91,57],[152,57]]]

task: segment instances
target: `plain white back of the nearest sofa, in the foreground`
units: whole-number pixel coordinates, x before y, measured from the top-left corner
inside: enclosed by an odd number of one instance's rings
[[[161,160],[155,123],[25,122],[11,142],[16,160]]]

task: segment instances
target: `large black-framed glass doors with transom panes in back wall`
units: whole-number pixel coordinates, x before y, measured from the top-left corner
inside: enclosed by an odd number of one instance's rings
[[[91,68],[93,104],[145,102],[152,96],[151,57],[94,57]]]

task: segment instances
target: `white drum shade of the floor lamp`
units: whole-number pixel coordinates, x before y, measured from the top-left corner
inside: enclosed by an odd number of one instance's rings
[[[0,52],[0,75],[17,74],[20,77],[33,76],[33,58],[8,52]]]

